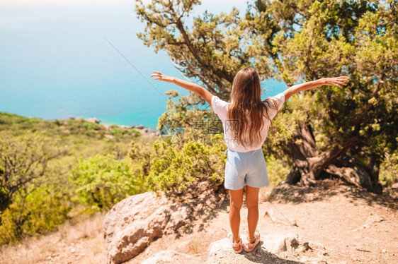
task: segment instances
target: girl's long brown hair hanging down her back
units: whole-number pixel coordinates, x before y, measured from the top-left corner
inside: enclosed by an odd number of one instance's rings
[[[263,116],[269,117],[269,109],[278,109],[275,100],[268,98],[261,101],[260,78],[254,68],[242,68],[234,77],[227,119],[232,135],[240,145],[246,148],[246,140],[250,145],[261,140],[261,129],[264,126]]]

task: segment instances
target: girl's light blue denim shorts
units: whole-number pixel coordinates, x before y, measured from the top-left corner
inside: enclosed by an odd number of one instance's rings
[[[261,188],[269,185],[266,159],[263,149],[237,152],[227,149],[224,186],[240,190],[245,185]]]

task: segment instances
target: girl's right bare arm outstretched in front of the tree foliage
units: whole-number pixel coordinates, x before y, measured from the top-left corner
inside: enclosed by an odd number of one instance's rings
[[[302,92],[305,90],[314,89],[322,85],[331,85],[331,86],[336,86],[338,88],[343,88],[341,85],[347,85],[347,83],[348,83],[347,76],[322,78],[319,80],[312,80],[311,82],[290,86],[290,88],[286,89],[285,92],[283,92],[283,94],[285,95],[285,102],[286,102],[296,92]]]

